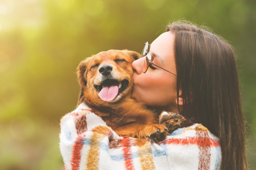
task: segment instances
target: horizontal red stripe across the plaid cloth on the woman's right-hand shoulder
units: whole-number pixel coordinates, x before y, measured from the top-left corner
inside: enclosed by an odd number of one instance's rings
[[[219,141],[207,137],[187,137],[181,138],[170,138],[160,143],[161,145],[174,144],[174,145],[198,145],[204,147],[217,147],[220,146]]]

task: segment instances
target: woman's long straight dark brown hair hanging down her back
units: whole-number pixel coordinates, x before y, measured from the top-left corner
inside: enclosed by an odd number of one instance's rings
[[[217,135],[221,169],[247,169],[245,123],[233,48],[221,37],[179,21],[167,26],[174,36],[177,96],[181,114],[202,123]]]

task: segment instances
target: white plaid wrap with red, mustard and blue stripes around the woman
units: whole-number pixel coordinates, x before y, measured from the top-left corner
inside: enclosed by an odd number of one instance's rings
[[[66,170],[219,169],[219,139],[202,124],[175,130],[159,144],[119,137],[84,104],[61,119],[60,150]]]

